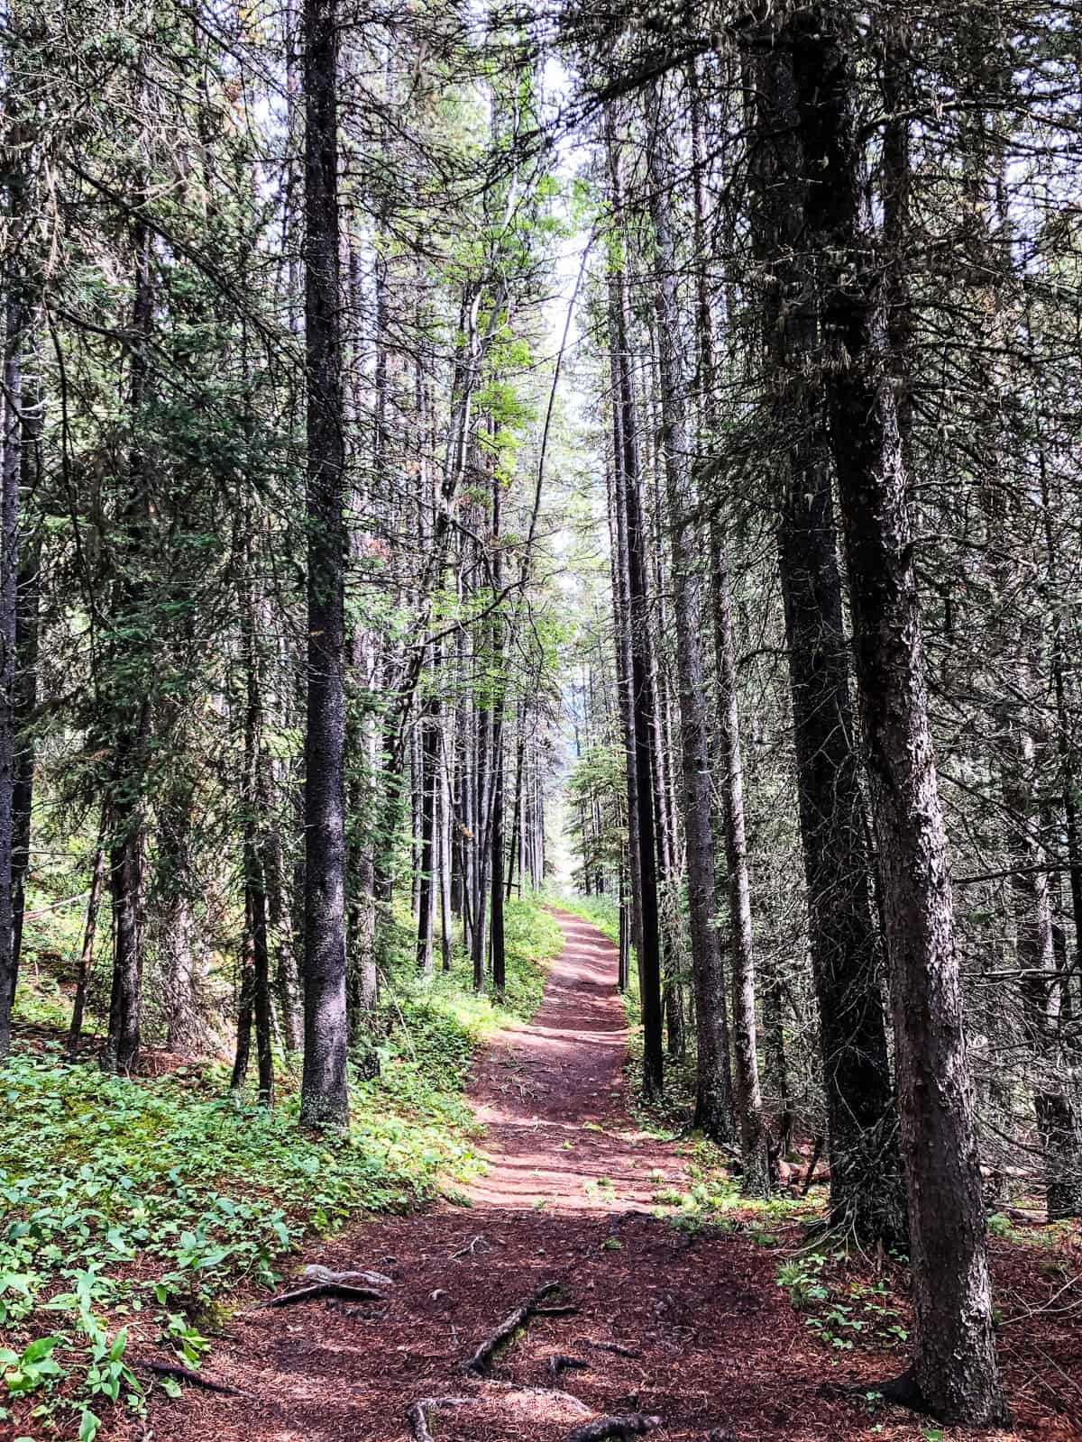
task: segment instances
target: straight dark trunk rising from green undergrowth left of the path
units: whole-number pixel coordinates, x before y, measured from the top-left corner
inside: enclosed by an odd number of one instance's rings
[[[338,4],[304,3],[307,360],[307,731],[304,1069],[300,1118],[345,1126],[345,448],[338,200]]]

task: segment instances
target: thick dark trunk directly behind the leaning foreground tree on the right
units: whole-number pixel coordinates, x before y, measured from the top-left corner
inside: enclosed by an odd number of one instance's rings
[[[830,187],[809,180],[821,173],[821,136],[801,108],[788,42],[789,30],[785,43],[766,50],[755,66],[763,134],[753,176],[755,245],[767,273],[763,330],[772,404],[778,434],[786,438],[776,497],[778,557],[827,1093],[831,1217],[864,1240],[905,1244],[906,1204],[831,500],[819,281],[806,267],[806,257],[821,244]]]

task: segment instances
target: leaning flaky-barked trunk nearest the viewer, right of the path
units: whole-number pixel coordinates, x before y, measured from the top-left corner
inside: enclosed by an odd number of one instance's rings
[[[946,836],[894,388],[883,366],[844,17],[786,27],[805,174],[827,258],[821,358],[845,535],[857,686],[890,956],[913,1272],[913,1380],[949,1422],[1004,1419],[954,947]],[[830,177],[827,183],[825,177]],[[844,356],[844,363],[841,359]]]

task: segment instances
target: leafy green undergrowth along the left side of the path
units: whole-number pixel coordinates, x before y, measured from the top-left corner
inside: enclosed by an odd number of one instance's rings
[[[268,1112],[221,1063],[127,1080],[59,1040],[20,1045],[0,1069],[0,1420],[91,1442],[102,1406],[143,1409],[133,1353],[198,1366],[229,1293],[273,1286],[306,1236],[476,1174],[472,1053],[532,1014],[558,946],[541,907],[509,904],[503,1007],[462,955],[431,978],[390,965],[379,1076],[355,1079],[346,1135],[299,1129],[281,1067]]]

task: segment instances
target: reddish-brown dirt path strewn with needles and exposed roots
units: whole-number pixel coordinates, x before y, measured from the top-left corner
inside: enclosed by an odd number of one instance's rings
[[[560,1442],[590,1416],[626,1412],[662,1417],[659,1442],[936,1435],[900,1410],[871,1416],[824,1394],[825,1381],[893,1376],[900,1358],[835,1358],[778,1288],[778,1252],[743,1234],[690,1236],[652,1214],[659,1185],[681,1187],[681,1149],[628,1118],[613,947],[576,917],[560,921],[567,945],[537,1018],[499,1034],[476,1067],[472,1100],[489,1128],[491,1168],[472,1207],[365,1220],[306,1257],[377,1268],[395,1286],[374,1306],[234,1314],[206,1373],[245,1396],[188,1387],[177,1402],[159,1400],[156,1442],[404,1442],[408,1405],[431,1396],[472,1399],[433,1415],[437,1442]],[[1026,1259],[995,1252],[1017,1283],[1008,1278],[1007,1291],[1030,1296]],[[463,1360],[548,1280],[577,1315],[537,1318],[496,1361],[495,1384],[466,1379]],[[1044,1341],[1050,1376],[1060,1376],[1055,1402],[1034,1386],[1029,1341],[1004,1348],[1019,1430],[990,1436],[1082,1438],[1082,1350],[1070,1328]],[[558,1353],[590,1368],[553,1381]]]

